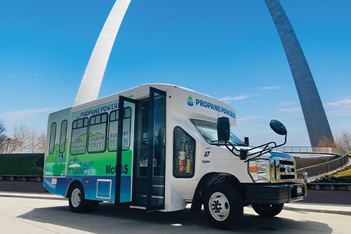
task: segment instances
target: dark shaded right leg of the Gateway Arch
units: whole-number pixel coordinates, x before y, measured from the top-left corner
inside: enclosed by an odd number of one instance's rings
[[[333,141],[322,100],[293,27],[278,0],[265,0],[265,4],[272,15],[275,27],[277,27],[291,74],[293,74],[311,146],[318,146],[319,140],[323,136]]]

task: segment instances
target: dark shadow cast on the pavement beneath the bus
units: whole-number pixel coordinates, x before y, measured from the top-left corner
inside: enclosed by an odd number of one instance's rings
[[[114,204],[102,203],[95,212],[76,214],[69,207],[37,208],[19,216],[21,219],[39,223],[51,223],[91,233],[223,233],[213,228],[204,212],[191,214],[190,209],[179,212],[150,212],[144,210],[119,208]],[[311,227],[313,227],[311,229]],[[237,228],[231,233],[332,233],[325,223],[315,221],[296,221],[285,218],[263,218],[244,214]]]

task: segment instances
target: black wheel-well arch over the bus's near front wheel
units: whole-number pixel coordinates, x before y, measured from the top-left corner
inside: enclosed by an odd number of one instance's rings
[[[237,188],[243,200],[246,197],[245,187],[240,183],[237,177],[232,174],[226,173],[209,173],[201,178],[199,183],[197,184],[197,188],[194,192],[194,196],[192,197],[192,213],[198,213],[201,211],[201,206],[204,204],[204,195],[206,194],[206,190],[210,188],[213,184],[216,183],[228,183],[231,186]]]

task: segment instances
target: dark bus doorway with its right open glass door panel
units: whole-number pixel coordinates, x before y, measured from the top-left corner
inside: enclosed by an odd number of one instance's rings
[[[164,209],[166,93],[150,88],[138,105],[138,151],[133,204],[147,211]]]

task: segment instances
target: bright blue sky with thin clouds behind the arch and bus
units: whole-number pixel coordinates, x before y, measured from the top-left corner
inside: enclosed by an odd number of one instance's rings
[[[46,131],[48,113],[73,105],[114,0],[1,0],[0,120]],[[303,48],[334,135],[351,133],[351,1],[281,0]],[[99,96],[171,83],[223,98],[237,136],[253,145],[288,129],[310,145],[289,64],[261,1],[132,0]]]

